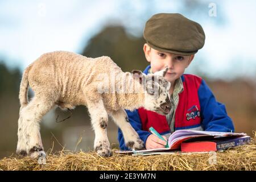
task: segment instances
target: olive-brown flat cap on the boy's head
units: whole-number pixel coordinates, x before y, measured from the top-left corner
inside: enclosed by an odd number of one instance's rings
[[[177,13],[153,15],[146,22],[143,36],[150,47],[178,55],[195,54],[205,41],[200,24]]]

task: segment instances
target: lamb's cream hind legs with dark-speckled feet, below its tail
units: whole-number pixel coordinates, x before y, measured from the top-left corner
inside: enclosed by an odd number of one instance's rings
[[[26,107],[20,109],[17,154],[30,155],[31,158],[45,160],[46,152],[43,151],[39,123],[54,103],[52,98],[49,100],[43,96],[35,96]]]

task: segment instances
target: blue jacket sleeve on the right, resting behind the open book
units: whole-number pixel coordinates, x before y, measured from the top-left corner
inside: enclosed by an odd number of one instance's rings
[[[226,113],[225,105],[216,101],[204,80],[201,82],[198,94],[204,130],[234,132],[233,122]]]

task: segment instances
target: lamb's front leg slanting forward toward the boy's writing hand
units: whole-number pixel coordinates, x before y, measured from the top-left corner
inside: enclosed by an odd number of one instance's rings
[[[127,114],[124,109],[113,112],[112,117],[114,122],[121,129],[127,147],[134,150],[142,150],[145,148],[144,143],[139,138],[138,133],[129,123]]]

